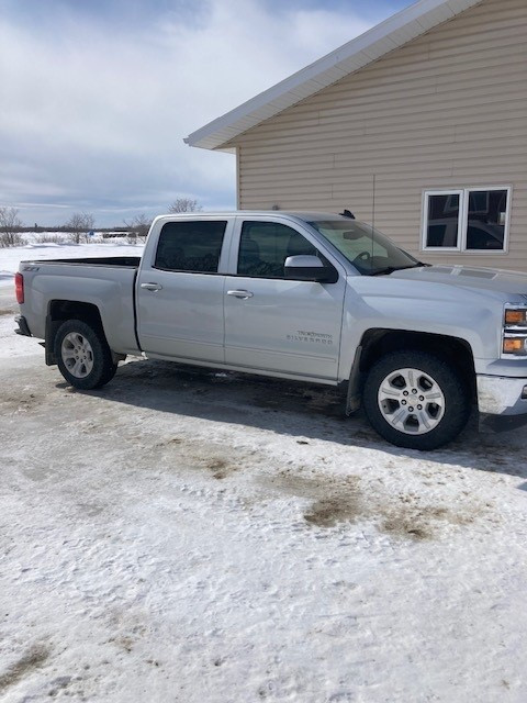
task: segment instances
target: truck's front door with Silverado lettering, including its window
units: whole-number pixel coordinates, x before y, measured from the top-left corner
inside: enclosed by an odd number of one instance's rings
[[[238,217],[236,230],[237,260],[231,261],[236,276],[228,276],[225,286],[226,362],[336,380],[346,286],[343,271],[337,267],[335,283],[287,280],[287,257],[321,256],[316,245],[272,219]]]

